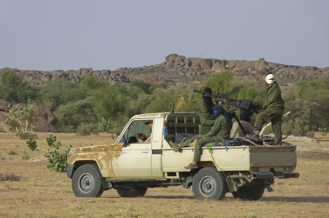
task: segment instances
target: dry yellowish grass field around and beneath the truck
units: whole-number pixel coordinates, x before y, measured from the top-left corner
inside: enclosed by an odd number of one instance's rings
[[[46,133],[37,133],[46,148]],[[63,147],[112,143],[111,134],[54,134]],[[289,138],[288,138],[289,139]],[[100,198],[77,198],[66,173],[50,171],[43,152],[32,152],[15,133],[0,133],[0,217],[69,218],[286,218],[329,217],[329,143],[303,138],[298,145],[298,179],[275,179],[273,192],[256,202],[198,201],[182,186],[149,188],[142,198],[120,198],[110,189]],[[2,177],[1,177],[2,175]],[[4,176],[6,176],[4,178]],[[15,181],[17,180],[17,181]]]

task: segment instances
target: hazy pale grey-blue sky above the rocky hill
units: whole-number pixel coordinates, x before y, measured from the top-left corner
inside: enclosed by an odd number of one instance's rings
[[[0,68],[186,58],[329,66],[329,0],[0,0]]]

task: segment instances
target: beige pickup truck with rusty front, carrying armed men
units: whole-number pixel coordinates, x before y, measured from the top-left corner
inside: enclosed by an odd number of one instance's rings
[[[211,150],[203,147],[199,168],[184,169],[192,162],[194,148],[175,152],[169,141],[198,134],[198,125],[198,113],[135,115],[115,144],[72,149],[66,171],[75,196],[100,197],[104,190],[114,188],[121,197],[142,197],[148,188],[182,185],[191,188],[196,199],[221,200],[231,192],[237,199],[253,201],[263,196],[265,188],[273,190],[270,185],[275,178],[299,177],[293,172],[295,145],[273,149],[239,140],[223,140]],[[139,143],[136,133],[151,139]]]

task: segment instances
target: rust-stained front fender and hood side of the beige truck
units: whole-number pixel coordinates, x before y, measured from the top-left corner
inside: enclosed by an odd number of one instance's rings
[[[67,164],[75,164],[77,161],[95,161],[104,178],[115,177],[112,171],[112,158],[118,158],[122,151],[122,144],[104,144],[74,148],[75,154]]]

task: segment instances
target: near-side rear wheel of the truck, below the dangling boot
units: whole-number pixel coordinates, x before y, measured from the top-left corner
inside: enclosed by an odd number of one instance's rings
[[[193,179],[192,190],[198,200],[222,200],[228,190],[224,173],[214,167],[202,168]]]

